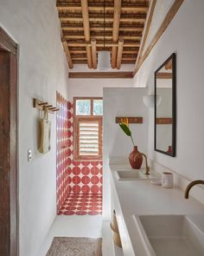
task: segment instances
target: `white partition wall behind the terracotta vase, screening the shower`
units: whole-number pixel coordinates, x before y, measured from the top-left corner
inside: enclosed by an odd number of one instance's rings
[[[111,192],[108,178],[109,158],[127,158],[132,151],[131,138],[124,135],[115,123],[116,116],[143,116],[143,124],[130,124],[133,140],[138,149],[147,153],[148,109],[143,104],[147,89],[105,88],[104,89],[104,219],[110,219]]]

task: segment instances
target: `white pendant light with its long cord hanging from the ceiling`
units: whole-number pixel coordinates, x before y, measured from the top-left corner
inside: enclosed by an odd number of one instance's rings
[[[111,53],[105,50],[105,0],[104,0],[104,50],[99,51],[98,54],[98,67],[99,70],[111,69]]]

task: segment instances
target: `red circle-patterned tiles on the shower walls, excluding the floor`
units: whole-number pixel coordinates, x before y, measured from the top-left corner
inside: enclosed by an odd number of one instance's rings
[[[61,95],[57,95],[57,98],[61,102],[58,104],[57,101],[57,107],[63,108],[57,115],[57,210],[59,213],[67,194],[102,194],[103,163],[73,160],[73,103],[67,102]],[[63,146],[67,148],[61,148]]]

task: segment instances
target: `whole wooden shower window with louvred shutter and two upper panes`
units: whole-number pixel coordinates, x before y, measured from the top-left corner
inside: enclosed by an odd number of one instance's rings
[[[74,158],[102,159],[102,98],[73,98]]]

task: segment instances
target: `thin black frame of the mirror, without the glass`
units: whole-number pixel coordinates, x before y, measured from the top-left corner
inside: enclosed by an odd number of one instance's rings
[[[172,153],[165,152],[156,148],[156,73],[172,59]],[[155,71],[155,151],[175,157],[176,145],[176,56],[173,53],[163,64]]]

